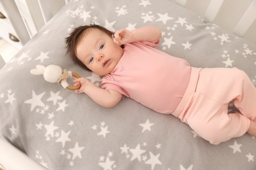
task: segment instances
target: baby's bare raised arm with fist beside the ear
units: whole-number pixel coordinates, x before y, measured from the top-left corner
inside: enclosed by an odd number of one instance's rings
[[[114,41],[116,43],[127,44],[129,42],[136,41],[150,41],[157,42],[161,37],[161,29],[154,26],[145,26],[133,31],[127,29],[120,29],[116,31],[114,35]]]

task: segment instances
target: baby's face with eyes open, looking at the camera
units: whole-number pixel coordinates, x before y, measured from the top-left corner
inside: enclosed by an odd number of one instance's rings
[[[77,58],[96,75],[107,75],[116,67],[123,48],[99,29],[88,30],[77,44]]]

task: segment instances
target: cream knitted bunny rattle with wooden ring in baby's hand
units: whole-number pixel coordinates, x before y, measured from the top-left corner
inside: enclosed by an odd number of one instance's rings
[[[43,78],[45,78],[47,82],[57,82],[58,84],[61,84],[63,88],[68,90],[77,90],[81,87],[80,84],[77,86],[70,86],[66,81],[72,76],[79,78],[79,75],[72,71],[66,71],[66,69],[62,71],[62,68],[58,65],[48,65],[47,67],[43,65],[36,65],[35,69],[32,69],[30,73],[32,73],[32,75],[43,75]]]

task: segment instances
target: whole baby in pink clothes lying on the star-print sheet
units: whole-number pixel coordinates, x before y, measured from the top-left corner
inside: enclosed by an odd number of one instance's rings
[[[103,76],[101,88],[86,78],[76,93],[86,93],[103,107],[114,107],[123,95],[162,114],[173,114],[211,144],[244,133],[256,136],[256,88],[236,68],[195,68],[156,49],[161,30],[146,26],[112,33],[91,24],[66,38],[75,63]],[[228,114],[228,103],[240,113]]]

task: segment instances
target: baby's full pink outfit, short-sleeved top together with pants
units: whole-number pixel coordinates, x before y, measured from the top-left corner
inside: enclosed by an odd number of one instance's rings
[[[190,67],[186,60],[157,50],[158,43],[125,44],[101,87],[173,114],[212,144],[244,135],[250,120],[256,121],[256,88],[244,71]],[[239,113],[228,114],[230,101]]]

